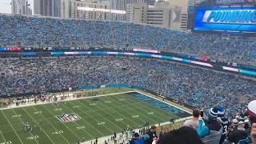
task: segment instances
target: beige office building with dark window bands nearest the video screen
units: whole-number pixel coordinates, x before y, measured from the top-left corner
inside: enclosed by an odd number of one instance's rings
[[[147,23],[154,26],[169,27],[172,30],[186,30],[186,15],[182,14],[181,6],[170,6],[169,2],[158,1],[154,6],[146,3],[130,4],[127,10],[130,22]]]

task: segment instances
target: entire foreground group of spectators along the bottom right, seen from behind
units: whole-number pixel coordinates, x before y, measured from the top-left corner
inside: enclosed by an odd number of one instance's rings
[[[146,135],[134,134],[128,143],[255,144],[255,120],[256,100],[248,104],[246,113],[238,114],[231,122],[226,118],[223,106],[214,106],[209,110],[194,109],[193,118],[186,120],[184,126],[162,135],[156,134],[151,127]]]

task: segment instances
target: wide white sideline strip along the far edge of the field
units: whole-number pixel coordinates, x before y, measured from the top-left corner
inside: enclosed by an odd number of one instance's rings
[[[90,97],[82,97],[82,98],[66,98],[66,99],[63,100],[62,102],[65,102],[65,101],[74,101],[74,100],[78,100],[78,99],[105,97],[105,96],[109,96],[109,95],[126,94],[126,93],[131,93],[131,92],[134,92],[134,90],[133,90],[133,91],[120,92],[120,93],[113,93],[113,94],[101,94],[101,95],[90,96]],[[70,94],[74,94],[74,93],[70,93]],[[57,98],[60,98],[60,96],[61,96],[61,94],[56,95]],[[36,104],[35,104],[34,102],[30,102],[30,103],[27,103],[27,102],[26,102],[25,105],[16,106],[16,104],[13,104],[13,105],[11,105],[11,106],[9,106],[9,107],[0,108],[0,110],[15,109],[15,108],[26,107],[26,106],[45,105],[45,104],[49,104],[49,103],[54,103],[54,102],[37,102]]]

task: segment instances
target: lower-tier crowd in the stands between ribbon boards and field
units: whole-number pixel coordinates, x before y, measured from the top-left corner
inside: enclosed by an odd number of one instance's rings
[[[147,58],[8,58],[0,67],[0,96],[126,83],[203,110],[226,106],[230,117],[256,98],[252,78]]]

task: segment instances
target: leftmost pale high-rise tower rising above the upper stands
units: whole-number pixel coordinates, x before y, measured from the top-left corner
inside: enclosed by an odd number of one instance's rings
[[[31,15],[32,10],[27,0],[12,0],[11,14]]]

